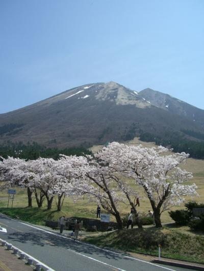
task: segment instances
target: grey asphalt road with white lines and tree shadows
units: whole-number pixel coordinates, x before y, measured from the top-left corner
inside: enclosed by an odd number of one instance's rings
[[[149,263],[115,251],[97,248],[0,214],[7,233],[0,238],[32,255],[56,271],[188,271],[189,269]]]

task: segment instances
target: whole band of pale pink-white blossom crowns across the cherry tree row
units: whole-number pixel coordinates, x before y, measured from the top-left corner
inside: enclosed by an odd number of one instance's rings
[[[148,148],[112,142],[93,156],[61,155],[57,161],[1,158],[0,177],[24,185],[36,195],[40,191],[47,202],[55,195],[59,200],[65,196],[86,197],[114,216],[119,214],[120,202],[134,207],[134,198],[139,197],[124,181],[131,178],[143,188],[154,212],[161,214],[179,205],[185,196],[197,196],[196,185],[185,184],[192,173],[178,167],[188,155],[169,155],[167,151],[162,146]]]

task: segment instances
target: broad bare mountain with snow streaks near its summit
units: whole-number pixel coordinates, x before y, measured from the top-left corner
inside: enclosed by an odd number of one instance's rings
[[[138,93],[115,82],[89,83],[0,114],[0,143],[91,146],[144,133],[202,141],[203,119],[204,110],[149,88]]]

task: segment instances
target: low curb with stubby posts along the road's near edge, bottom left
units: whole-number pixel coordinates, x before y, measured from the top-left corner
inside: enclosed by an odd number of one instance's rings
[[[23,252],[22,250],[12,246],[12,244],[6,242],[5,240],[1,238],[0,238],[0,242],[1,242],[2,247],[7,247],[8,250],[13,250],[13,254],[18,256],[19,259],[26,260],[29,265],[34,266],[36,271],[40,271],[41,268],[43,268],[46,271],[55,271],[54,269],[50,268],[46,264],[38,261],[37,259],[33,258],[29,254]]]

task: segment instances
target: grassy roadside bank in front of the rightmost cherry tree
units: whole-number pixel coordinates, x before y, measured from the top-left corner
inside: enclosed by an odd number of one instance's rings
[[[160,244],[162,257],[204,264],[204,236],[182,233],[166,227],[123,229],[107,235],[86,237],[85,241],[97,246],[155,256],[158,256]]]

